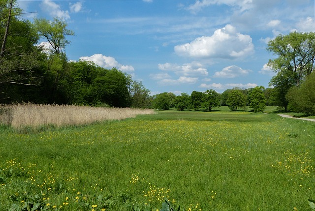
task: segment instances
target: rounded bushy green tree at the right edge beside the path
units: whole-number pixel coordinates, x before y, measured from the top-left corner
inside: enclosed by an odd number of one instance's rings
[[[291,87],[287,98],[289,107],[295,112],[315,115],[315,73],[310,74],[298,87]]]

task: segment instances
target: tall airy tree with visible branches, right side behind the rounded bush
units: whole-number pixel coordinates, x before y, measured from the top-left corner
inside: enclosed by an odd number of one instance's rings
[[[277,72],[269,85],[274,87],[279,108],[287,111],[288,100],[285,96],[288,90],[293,86],[299,87],[314,69],[315,33],[278,35],[268,43],[267,50],[277,56],[268,62],[268,66]]]

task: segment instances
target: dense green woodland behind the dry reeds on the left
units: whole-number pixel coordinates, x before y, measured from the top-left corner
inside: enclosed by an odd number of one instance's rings
[[[21,19],[16,0],[0,1],[0,103],[147,107],[150,91],[116,68],[68,61],[74,32],[60,18]],[[40,39],[49,45],[40,46]]]

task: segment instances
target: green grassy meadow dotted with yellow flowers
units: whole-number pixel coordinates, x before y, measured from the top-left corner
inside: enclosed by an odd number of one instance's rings
[[[269,107],[267,111],[272,112]],[[158,111],[21,133],[0,126],[0,210],[311,211],[315,122]]]

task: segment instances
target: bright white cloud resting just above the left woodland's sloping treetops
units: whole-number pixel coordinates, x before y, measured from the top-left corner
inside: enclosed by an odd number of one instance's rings
[[[83,56],[83,57],[80,57],[80,60],[92,61],[96,65],[103,67],[103,68],[107,68],[107,69],[117,68],[117,69],[122,70],[124,72],[134,71],[134,68],[131,65],[119,64],[115,58],[110,57],[110,56],[104,56],[102,54],[94,54],[92,56]]]

